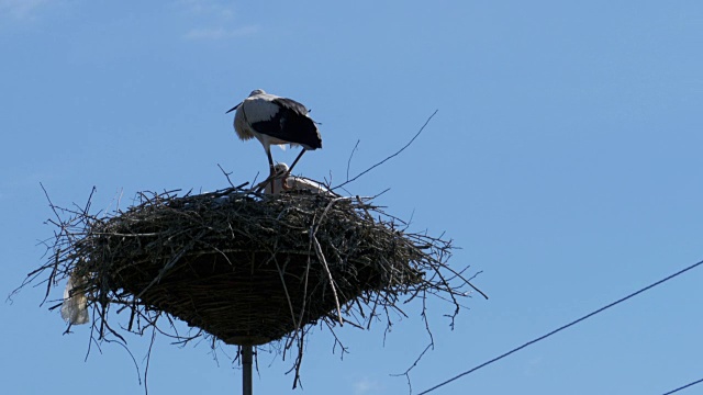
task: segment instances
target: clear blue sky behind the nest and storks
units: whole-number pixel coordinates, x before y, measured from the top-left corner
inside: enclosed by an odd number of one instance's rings
[[[436,347],[414,392],[703,258],[703,3],[700,1],[0,0],[0,291],[38,267],[59,205],[122,191],[215,190],[217,168],[267,171],[224,112],[260,88],[305,103],[323,149],[297,171],[346,177],[411,229],[462,247],[491,298],[454,331],[431,305]],[[295,150],[274,150],[290,161]],[[661,394],[703,377],[703,269],[434,394]],[[60,285],[63,286],[63,284]],[[59,287],[60,287],[59,286]],[[137,394],[116,345],[63,336],[43,289],[1,303],[0,392]],[[53,297],[60,297],[57,292]],[[416,305],[380,326],[310,337],[292,361],[259,358],[258,394],[406,394],[428,341]],[[143,369],[148,343],[130,337]],[[224,348],[156,342],[152,394],[237,394]],[[143,371],[142,371],[143,372]],[[687,393],[703,392],[703,384]]]

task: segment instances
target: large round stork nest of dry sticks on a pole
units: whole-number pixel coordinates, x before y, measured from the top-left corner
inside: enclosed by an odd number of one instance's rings
[[[287,339],[288,349],[299,339],[299,363],[302,335],[315,323],[368,329],[427,294],[451,302],[454,316],[472,287],[447,266],[450,240],[408,233],[370,199],[230,188],[140,193],[109,215],[52,207],[59,232],[48,262],[27,279],[48,273],[47,295],[58,281],[79,279],[75,292],[88,296],[98,339],[142,334],[163,317],[175,328],[178,318],[197,328],[174,335],[183,342]],[[129,320],[111,325],[111,308]]]

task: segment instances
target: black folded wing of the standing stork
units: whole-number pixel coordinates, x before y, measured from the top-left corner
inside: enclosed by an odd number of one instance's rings
[[[268,121],[253,122],[252,127],[283,142],[302,145],[305,149],[322,148],[322,137],[315,123],[301,103],[283,98],[274,99],[279,111]]]

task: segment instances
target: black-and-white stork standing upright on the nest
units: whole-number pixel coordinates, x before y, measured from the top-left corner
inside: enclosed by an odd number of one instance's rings
[[[269,178],[276,176],[271,145],[289,144],[291,147],[303,147],[286,177],[306,150],[322,148],[322,138],[315,122],[308,114],[308,109],[294,100],[257,89],[227,113],[234,110],[234,131],[237,136],[243,140],[256,137],[264,146],[268,156]]]

